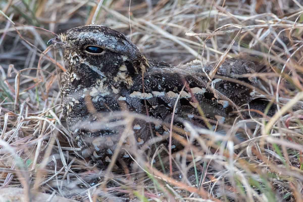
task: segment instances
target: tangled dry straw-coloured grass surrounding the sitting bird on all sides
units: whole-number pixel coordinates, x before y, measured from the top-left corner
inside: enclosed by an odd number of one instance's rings
[[[25,201],[33,191],[78,201],[303,201],[302,8],[297,0],[0,2],[1,188],[24,188]],[[225,136],[192,129],[201,144],[184,142],[173,173],[148,163],[135,173],[99,170],[64,126],[65,62],[46,45],[51,32],[92,22],[173,65],[250,58],[257,95],[275,115],[239,117]],[[245,140],[233,141],[240,129]]]

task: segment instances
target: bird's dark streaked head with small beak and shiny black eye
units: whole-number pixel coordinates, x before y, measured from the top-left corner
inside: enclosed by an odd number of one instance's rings
[[[106,77],[127,86],[132,85],[133,76],[149,67],[146,58],[122,33],[100,25],[69,29],[48,44],[58,44],[59,50],[64,50],[68,70]]]

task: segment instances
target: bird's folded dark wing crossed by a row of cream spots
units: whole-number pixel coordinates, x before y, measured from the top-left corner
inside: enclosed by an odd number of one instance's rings
[[[131,89],[122,91],[120,99],[125,100],[131,111],[145,114],[147,108],[149,116],[167,121],[170,120],[175,103],[175,115],[179,118],[192,119],[195,115],[201,115],[199,107],[211,119],[228,116],[233,109],[230,103],[211,89],[206,81],[171,68],[154,69],[145,74],[143,82],[139,78]]]

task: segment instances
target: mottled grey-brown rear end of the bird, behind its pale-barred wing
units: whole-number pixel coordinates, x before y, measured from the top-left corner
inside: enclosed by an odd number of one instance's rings
[[[228,97],[236,105],[241,106],[249,103],[255,94],[257,78],[255,77],[255,64],[250,60],[241,58],[228,58],[218,67],[215,63],[203,63],[200,60],[194,60],[179,68],[189,72],[196,79],[205,80],[206,74],[216,68],[216,74],[210,84],[218,92]]]

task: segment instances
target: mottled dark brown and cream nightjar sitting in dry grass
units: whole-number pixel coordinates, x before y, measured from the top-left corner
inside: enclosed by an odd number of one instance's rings
[[[154,124],[134,118],[131,131],[127,131],[128,138],[122,142],[125,149],[121,149],[117,158],[118,162],[129,165],[130,154],[136,155],[131,151],[134,147],[153,154],[153,136],[160,139],[164,136],[161,143],[168,145],[169,127],[165,123],[170,125],[175,103],[174,125],[182,128],[184,121],[205,125],[198,107],[208,119],[224,121],[235,110],[234,105],[250,103],[255,92],[253,87],[224,79],[255,85],[255,77],[237,77],[255,72],[251,61],[226,59],[217,68],[216,76],[221,78],[215,77],[209,82],[205,73],[210,73],[216,63],[201,66],[196,60],[174,67],[147,59],[122,33],[104,26],[72,28],[48,44],[59,44],[69,63],[61,81],[68,129],[82,149],[82,155],[91,157],[100,166],[111,162],[127,125],[128,117],[115,112],[127,110],[162,122]],[[172,144],[173,149],[181,145],[176,140]]]

